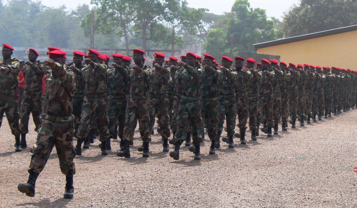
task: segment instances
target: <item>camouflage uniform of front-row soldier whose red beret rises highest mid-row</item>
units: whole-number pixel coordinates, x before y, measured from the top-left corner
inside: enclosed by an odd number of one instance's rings
[[[139,121],[139,131],[143,142],[150,142],[149,131],[149,79],[151,69],[143,66],[139,71],[129,67],[130,96],[126,106],[123,140],[133,141],[136,122]]]

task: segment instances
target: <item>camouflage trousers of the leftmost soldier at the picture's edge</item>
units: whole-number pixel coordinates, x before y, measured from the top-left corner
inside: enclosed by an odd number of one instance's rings
[[[11,133],[14,136],[20,136],[21,130],[19,127],[19,109],[17,100],[19,99],[17,91],[10,94],[0,93],[0,127],[4,112],[9,122]]]

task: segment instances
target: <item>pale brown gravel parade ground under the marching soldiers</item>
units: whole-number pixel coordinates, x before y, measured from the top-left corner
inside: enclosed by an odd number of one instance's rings
[[[99,144],[75,158],[74,198],[62,199],[65,176],[60,172],[54,149],[36,182],[35,197],[17,191],[26,182],[31,153],[14,151],[14,138],[7,122],[0,138],[0,207],[356,207],[357,110],[324,119],[272,138],[259,136],[247,145],[208,155],[209,141],[201,148],[201,161],[194,161],[187,147],[180,161],[162,152],[159,134],[152,137],[150,158],[136,151],[131,158],[112,151],[101,156]],[[31,118],[30,118],[31,121]],[[351,125],[352,124],[352,125]],[[30,128],[34,124],[30,122]],[[332,127],[333,126],[333,127]],[[280,127],[281,128],[281,127]],[[237,128],[236,128],[237,130]],[[27,135],[32,146],[36,133]],[[139,138],[139,132],[135,132]],[[76,143],[76,142],[75,142]],[[170,149],[173,149],[170,146]]]

